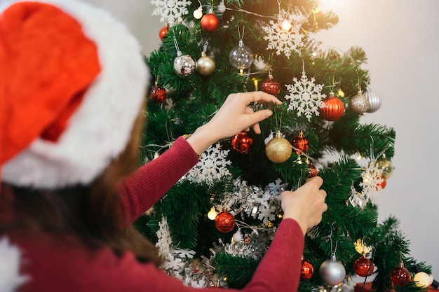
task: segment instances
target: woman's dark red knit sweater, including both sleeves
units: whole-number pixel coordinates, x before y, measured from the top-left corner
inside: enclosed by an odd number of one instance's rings
[[[138,169],[118,186],[127,216],[133,221],[142,215],[197,160],[187,141],[179,138],[170,150]],[[60,240],[51,235],[14,244],[22,250],[22,272],[30,277],[20,291],[199,291],[199,288],[184,286],[152,264],[138,263],[132,253],[118,257],[108,248],[90,251],[82,244],[60,244]],[[297,222],[283,220],[269,251],[243,291],[296,291],[303,246],[304,237]],[[224,288],[208,289],[224,291]]]

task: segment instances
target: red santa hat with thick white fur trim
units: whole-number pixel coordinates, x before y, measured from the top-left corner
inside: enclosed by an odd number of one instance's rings
[[[0,176],[90,183],[123,151],[147,87],[135,38],[74,0],[0,4]]]

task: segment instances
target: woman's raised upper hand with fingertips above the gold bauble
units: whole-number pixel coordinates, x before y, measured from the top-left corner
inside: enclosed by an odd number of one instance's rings
[[[210,145],[220,139],[232,137],[243,130],[253,127],[260,134],[259,122],[273,115],[269,109],[253,112],[249,105],[252,102],[262,104],[282,104],[282,102],[262,91],[242,92],[229,95],[215,116],[205,125],[191,134],[187,139],[194,151],[201,154]]]

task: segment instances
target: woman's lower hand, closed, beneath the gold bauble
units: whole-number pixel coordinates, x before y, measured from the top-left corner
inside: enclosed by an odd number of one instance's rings
[[[322,214],[327,210],[326,192],[321,190],[323,179],[315,176],[294,192],[281,193],[283,218],[293,218],[299,223],[304,235],[306,230],[322,221]]]

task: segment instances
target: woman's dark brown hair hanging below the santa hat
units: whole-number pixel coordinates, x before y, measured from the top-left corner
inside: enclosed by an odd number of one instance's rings
[[[143,120],[137,118],[125,150],[90,186],[35,190],[4,183],[0,206],[10,206],[11,216],[2,221],[0,232],[22,231],[29,236],[50,232],[66,239],[67,244],[73,235],[92,249],[109,246],[117,255],[133,251],[142,261],[161,263],[154,244],[127,222],[115,188],[138,167]]]

